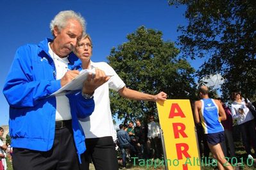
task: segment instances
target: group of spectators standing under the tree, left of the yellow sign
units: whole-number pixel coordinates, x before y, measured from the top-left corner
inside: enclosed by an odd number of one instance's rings
[[[123,168],[126,167],[127,157],[129,160],[132,160],[132,157],[153,160],[163,158],[160,125],[154,119],[153,115],[149,116],[146,125],[143,125],[139,119],[135,121],[136,126],[133,121],[128,125],[119,125],[117,146],[121,151]]]

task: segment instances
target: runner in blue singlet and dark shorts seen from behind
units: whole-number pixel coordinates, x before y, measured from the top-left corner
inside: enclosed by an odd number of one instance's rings
[[[221,142],[225,140],[224,128],[221,121],[226,120],[225,111],[218,100],[209,98],[207,86],[201,86],[198,95],[201,100],[194,103],[194,121],[203,125],[207,144],[214,158],[218,161],[219,169],[233,169],[226,161],[221,149]],[[200,121],[201,118],[201,121]]]

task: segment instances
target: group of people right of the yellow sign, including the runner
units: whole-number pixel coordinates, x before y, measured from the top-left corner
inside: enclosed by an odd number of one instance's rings
[[[228,169],[227,166],[219,163],[226,162],[225,157],[229,157],[230,160],[235,158],[234,128],[240,132],[237,134],[242,136],[247,157],[255,160],[255,105],[248,98],[243,98],[240,91],[231,93],[232,103],[230,106],[226,105],[223,98],[216,98],[215,100],[209,98],[208,93],[207,87],[200,88],[201,100],[197,101],[200,104],[197,102],[194,104],[194,114],[196,115],[194,119],[197,123],[200,155],[206,158],[202,160],[207,161],[211,151],[214,158],[218,160],[219,169]],[[200,108],[198,108],[198,105],[200,105]],[[218,109],[214,110],[214,105],[218,106]],[[254,153],[251,151],[252,148]]]

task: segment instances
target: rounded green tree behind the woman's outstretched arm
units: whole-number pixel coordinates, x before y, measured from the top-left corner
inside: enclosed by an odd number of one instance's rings
[[[128,42],[111,50],[108,63],[126,86],[149,94],[165,91],[169,98],[189,98],[194,93],[194,69],[177,57],[173,42],[164,42],[162,32],[142,26],[127,36]],[[138,102],[110,91],[112,112],[124,121],[143,119],[156,112],[155,102]]]

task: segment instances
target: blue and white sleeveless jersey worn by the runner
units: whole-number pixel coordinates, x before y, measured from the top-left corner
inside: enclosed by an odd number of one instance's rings
[[[224,131],[224,128],[221,125],[221,120],[219,119],[219,107],[214,102],[214,99],[202,99],[201,103],[200,118],[205,134]]]

